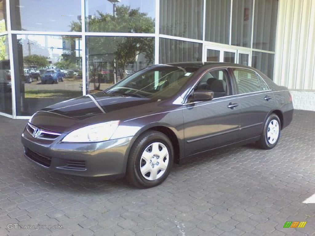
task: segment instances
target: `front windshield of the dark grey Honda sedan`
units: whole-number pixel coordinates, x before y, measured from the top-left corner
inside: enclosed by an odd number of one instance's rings
[[[165,99],[174,96],[198,68],[160,66],[148,68],[120,81],[103,93],[141,98]]]

